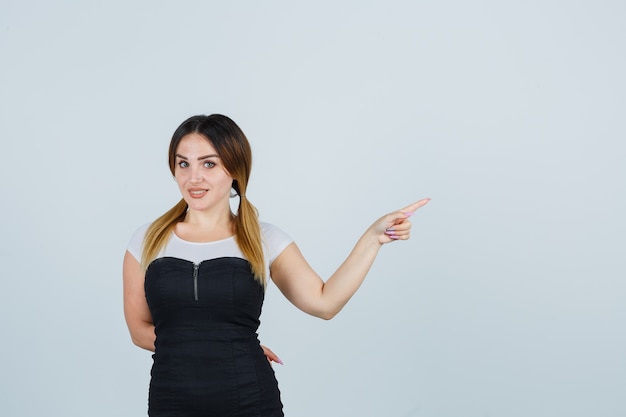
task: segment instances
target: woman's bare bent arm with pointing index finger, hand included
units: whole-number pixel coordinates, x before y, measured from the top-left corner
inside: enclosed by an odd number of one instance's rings
[[[333,318],[359,288],[381,246],[410,237],[408,219],[428,201],[428,198],[420,200],[374,222],[326,282],[309,266],[295,243],[272,262],[272,280],[302,311],[327,320]]]

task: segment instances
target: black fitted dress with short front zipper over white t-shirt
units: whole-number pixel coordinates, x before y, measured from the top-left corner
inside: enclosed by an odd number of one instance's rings
[[[264,289],[248,261],[158,258],[145,292],[156,333],[149,416],[284,415],[256,333]]]

